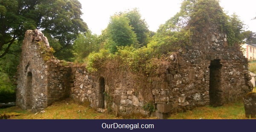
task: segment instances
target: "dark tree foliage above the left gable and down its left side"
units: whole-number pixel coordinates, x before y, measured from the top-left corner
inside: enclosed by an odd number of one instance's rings
[[[13,77],[26,30],[42,30],[55,56],[72,60],[74,40],[87,31],[81,15],[78,0],[0,0],[0,103],[15,96]],[[46,60],[53,53],[49,50],[42,49]]]

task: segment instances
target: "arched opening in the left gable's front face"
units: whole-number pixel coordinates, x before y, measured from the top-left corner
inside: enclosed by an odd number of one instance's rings
[[[26,82],[26,109],[32,109],[32,78],[32,72],[28,72]]]

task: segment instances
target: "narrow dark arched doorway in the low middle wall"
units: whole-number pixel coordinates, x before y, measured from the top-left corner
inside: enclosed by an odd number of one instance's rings
[[[98,108],[105,109],[105,79],[104,77],[99,78],[99,106]]]

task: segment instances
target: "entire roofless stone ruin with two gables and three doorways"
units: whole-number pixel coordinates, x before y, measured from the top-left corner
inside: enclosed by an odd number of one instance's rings
[[[90,102],[101,112],[111,109],[118,114],[167,118],[172,113],[185,112],[195,107],[221,106],[242,99],[252,91],[248,60],[239,45],[228,46],[227,34],[215,24],[195,32],[192,45],[180,50],[166,73],[149,77],[154,110],[143,109],[144,98],[133,88],[128,76],[111,80],[100,72],[89,73],[84,67],[65,66],[60,60],[44,60],[38,42],[49,48],[47,38],[39,30],[28,30],[23,41],[18,68],[16,104],[22,109],[40,111],[55,101],[72,98]],[[178,60],[178,63],[175,61]],[[137,80],[143,81],[143,80]],[[108,96],[106,91],[115,84]]]

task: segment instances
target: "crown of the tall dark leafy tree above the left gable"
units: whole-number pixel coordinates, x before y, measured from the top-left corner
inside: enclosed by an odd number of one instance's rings
[[[28,29],[41,29],[58,40],[57,55],[72,48],[79,32],[87,31],[80,9],[78,0],[0,0],[0,58],[11,52],[16,40],[23,40]]]

